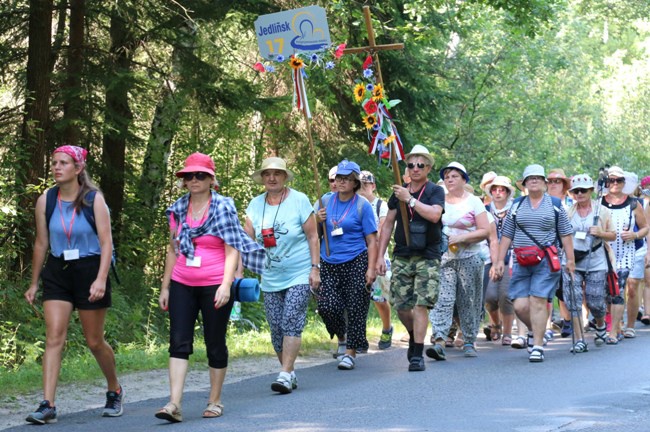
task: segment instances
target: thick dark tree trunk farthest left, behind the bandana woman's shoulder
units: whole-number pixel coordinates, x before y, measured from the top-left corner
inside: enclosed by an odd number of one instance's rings
[[[17,240],[19,269],[29,262],[34,240],[35,195],[25,187],[45,177],[45,131],[49,123],[50,58],[52,49],[52,0],[30,0],[27,47],[25,114],[20,151],[16,152],[16,194],[18,198]]]

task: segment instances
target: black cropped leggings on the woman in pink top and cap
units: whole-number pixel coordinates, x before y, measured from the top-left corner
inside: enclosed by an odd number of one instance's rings
[[[203,340],[208,365],[223,369],[228,366],[226,331],[234,296],[219,309],[214,308],[214,295],[219,285],[193,287],[171,281],[169,286],[169,356],[189,359],[193,353],[194,324],[201,311]]]

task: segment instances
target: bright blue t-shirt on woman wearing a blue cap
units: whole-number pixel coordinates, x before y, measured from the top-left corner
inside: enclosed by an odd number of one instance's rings
[[[362,200],[359,212],[358,200]],[[377,232],[375,212],[364,197],[354,194],[348,201],[339,200],[338,192],[327,201],[327,240],[330,254],[325,253],[325,242],[321,241],[320,257],[330,264],[343,264],[352,261],[368,249],[366,236]],[[343,230],[341,235],[332,235],[336,227]]]

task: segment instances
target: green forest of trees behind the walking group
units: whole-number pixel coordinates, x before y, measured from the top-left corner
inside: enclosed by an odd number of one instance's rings
[[[242,210],[260,193],[249,174],[287,159],[292,186],[316,198],[302,117],[288,73],[260,74],[253,22],[318,4],[334,44],[366,45],[371,7],[394,115],[406,150],[436,166],[458,160],[478,186],[493,170],[516,179],[529,163],[596,175],[604,164],[647,175],[650,5],[636,0],[4,0],[0,2],[0,365],[37,362],[42,312],[24,302],[34,202],[63,143],[89,150],[88,169],[113,218],[122,284],[111,343],[164,343],[156,299],[167,227],[182,190],[173,175],[201,151],[220,191]],[[364,55],[307,81],[321,187],[346,157],[391,174],[367,154],[352,88]],[[258,306],[248,315],[262,321]],[[80,332],[69,345],[83,345]]]

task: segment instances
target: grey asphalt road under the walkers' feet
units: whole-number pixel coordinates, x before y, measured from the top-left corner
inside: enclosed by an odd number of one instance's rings
[[[447,361],[427,359],[427,370],[408,372],[406,349],[358,356],[352,371],[336,362],[298,371],[299,388],[271,391],[275,375],[224,387],[224,416],[201,418],[205,392],[186,393],[185,421],[156,419],[167,395],[127,403],[123,417],[100,410],[60,413],[48,431],[650,431],[650,328],[617,346],[569,353],[571,339],[555,339],[544,363],[525,350],[485,342],[479,356],[447,350]],[[125,384],[127,388],[128,383]],[[128,393],[127,393],[128,398]],[[7,429],[24,431],[38,426]]]

